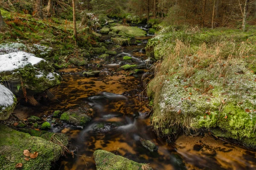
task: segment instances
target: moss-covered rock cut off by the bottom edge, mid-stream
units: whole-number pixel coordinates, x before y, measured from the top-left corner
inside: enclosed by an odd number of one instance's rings
[[[96,150],[93,153],[97,170],[143,170],[143,164],[129,160],[122,156],[105,151]],[[151,168],[148,170],[152,170]]]

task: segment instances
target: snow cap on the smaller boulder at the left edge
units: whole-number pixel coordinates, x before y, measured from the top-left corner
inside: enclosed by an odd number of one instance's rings
[[[13,93],[6,88],[5,86],[0,84],[0,106],[3,106],[2,110],[4,110],[6,107],[13,105],[14,101],[14,95]]]

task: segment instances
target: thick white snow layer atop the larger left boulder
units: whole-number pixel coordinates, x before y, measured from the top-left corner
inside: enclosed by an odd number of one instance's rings
[[[44,59],[35,57],[34,54],[29,54],[24,51],[13,52],[10,54],[0,55],[0,72],[13,71],[17,68],[24,67],[31,63],[32,65],[38,64]]]

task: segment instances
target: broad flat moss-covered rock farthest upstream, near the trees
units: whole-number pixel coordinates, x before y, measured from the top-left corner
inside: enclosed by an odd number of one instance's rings
[[[110,28],[111,31],[118,33],[124,32],[128,37],[145,37],[147,32],[138,27],[118,25]]]

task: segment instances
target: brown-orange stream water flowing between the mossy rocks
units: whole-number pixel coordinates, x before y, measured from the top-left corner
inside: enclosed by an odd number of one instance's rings
[[[135,64],[145,65],[145,53],[131,52],[143,47],[145,43],[116,51],[118,54],[122,53],[122,56],[134,57]],[[122,61],[122,57],[116,60]],[[99,62],[99,59],[90,61],[93,64]],[[92,65],[88,68],[61,70],[61,85],[47,92],[50,100],[41,108],[19,106],[16,109],[16,113],[41,116],[49,116],[55,110],[83,108],[88,105],[93,109],[92,120],[84,128],[63,123],[51,130],[65,133],[78,148],[76,154],[90,158],[73,158],[67,154],[52,169],[96,170],[93,152],[98,149],[111,151],[137,162],[149,163],[154,170],[256,169],[255,152],[214,139],[210,134],[204,134],[204,137],[183,135],[175,144],[168,144],[166,140],[157,138],[148,117],[151,107],[148,106],[145,92],[142,93],[143,74],[138,77],[129,76],[129,71],[120,71],[119,67],[117,64],[103,65],[102,68]],[[101,71],[99,77],[82,76],[84,70],[90,69]],[[104,129],[95,130],[98,123],[104,123]],[[157,151],[148,151],[140,143],[139,137],[154,142]]]

